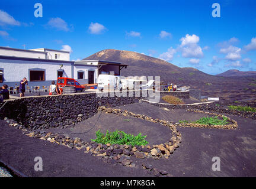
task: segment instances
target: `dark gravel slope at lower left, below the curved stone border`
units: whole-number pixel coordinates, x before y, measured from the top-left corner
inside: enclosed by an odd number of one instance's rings
[[[23,135],[0,120],[0,159],[28,177],[152,177],[145,170],[107,164],[77,149]],[[43,171],[34,171],[34,158]]]

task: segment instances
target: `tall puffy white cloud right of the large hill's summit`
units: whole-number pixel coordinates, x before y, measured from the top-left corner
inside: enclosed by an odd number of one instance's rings
[[[203,51],[197,43],[199,43],[199,37],[195,34],[185,35],[180,39],[181,45],[179,49],[182,52],[182,56],[185,58],[201,58],[203,57]]]

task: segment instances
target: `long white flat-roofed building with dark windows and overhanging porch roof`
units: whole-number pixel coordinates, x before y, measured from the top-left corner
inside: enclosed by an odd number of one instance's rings
[[[57,77],[70,77],[80,84],[97,83],[99,74],[120,75],[127,65],[104,60],[70,61],[69,52],[37,48],[22,50],[0,47],[0,86],[19,86],[24,77],[28,86],[49,86]]]

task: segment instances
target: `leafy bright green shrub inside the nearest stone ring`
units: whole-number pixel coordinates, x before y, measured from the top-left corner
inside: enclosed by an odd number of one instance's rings
[[[101,144],[119,144],[119,145],[146,145],[148,141],[145,140],[146,136],[142,136],[142,133],[139,133],[137,136],[127,134],[123,131],[114,131],[102,133],[100,130],[95,132],[96,139],[91,139],[91,141],[101,143]]]

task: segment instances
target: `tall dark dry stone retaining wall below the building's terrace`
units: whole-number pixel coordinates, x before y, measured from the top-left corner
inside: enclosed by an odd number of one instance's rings
[[[105,94],[108,95],[99,97],[97,93],[80,93],[7,100],[0,104],[0,107],[3,106],[0,118],[14,119],[30,129],[67,127],[95,115],[99,106],[128,105],[144,98],[142,91],[136,94],[137,97],[135,92],[133,97],[128,94],[126,97],[115,96],[114,93]]]

